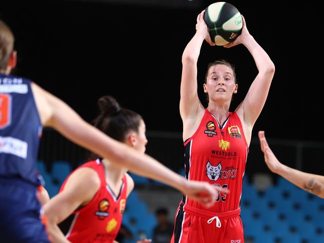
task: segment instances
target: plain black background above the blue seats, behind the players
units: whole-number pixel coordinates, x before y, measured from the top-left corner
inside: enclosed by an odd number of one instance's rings
[[[86,121],[96,116],[97,99],[109,94],[140,113],[147,130],[181,133],[181,55],[195,33],[198,13],[213,2],[11,0],[1,3],[0,18],[16,37],[14,73],[58,96]],[[253,138],[265,130],[269,139],[277,141],[322,142],[322,8],[303,1],[230,3],[245,16],[248,30],[276,66]],[[228,49],[204,42],[198,62],[198,93],[205,106],[205,71],[218,58],[236,66],[239,92],[232,102],[233,111],[244,99],[257,69],[243,45]],[[323,171],[322,150],[303,154],[306,161],[314,161],[314,172],[321,171],[320,167]],[[259,149],[255,151],[260,155]],[[283,159],[296,159],[294,151],[284,153]]]

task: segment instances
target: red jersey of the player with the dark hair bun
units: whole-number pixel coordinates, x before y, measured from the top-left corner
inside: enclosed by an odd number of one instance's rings
[[[112,243],[120,229],[126,207],[126,175],[123,176],[119,195],[115,196],[106,184],[105,168],[99,159],[87,162],[75,170],[84,167],[97,172],[101,186],[89,204],[73,212],[74,218],[66,238],[72,243]],[[59,192],[64,189],[67,179],[68,177]]]

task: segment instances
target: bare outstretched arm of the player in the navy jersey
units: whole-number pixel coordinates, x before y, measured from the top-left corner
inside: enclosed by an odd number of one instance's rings
[[[45,126],[51,126],[72,142],[90,151],[108,158],[119,166],[130,171],[158,180],[188,194],[195,200],[205,204],[213,204],[217,189],[208,183],[188,182],[184,177],[171,171],[152,157],[143,155],[127,145],[118,142],[92,125],[85,122],[75,111],[63,101],[33,84],[35,100]],[[203,193],[203,194],[201,194]]]

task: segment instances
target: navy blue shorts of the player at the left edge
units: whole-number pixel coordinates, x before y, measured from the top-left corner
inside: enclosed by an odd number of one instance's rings
[[[36,186],[0,178],[0,242],[50,243],[40,210]]]

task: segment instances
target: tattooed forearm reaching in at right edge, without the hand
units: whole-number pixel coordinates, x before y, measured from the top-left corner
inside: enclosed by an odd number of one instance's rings
[[[282,165],[277,173],[296,186],[324,198],[324,177],[305,173]]]

